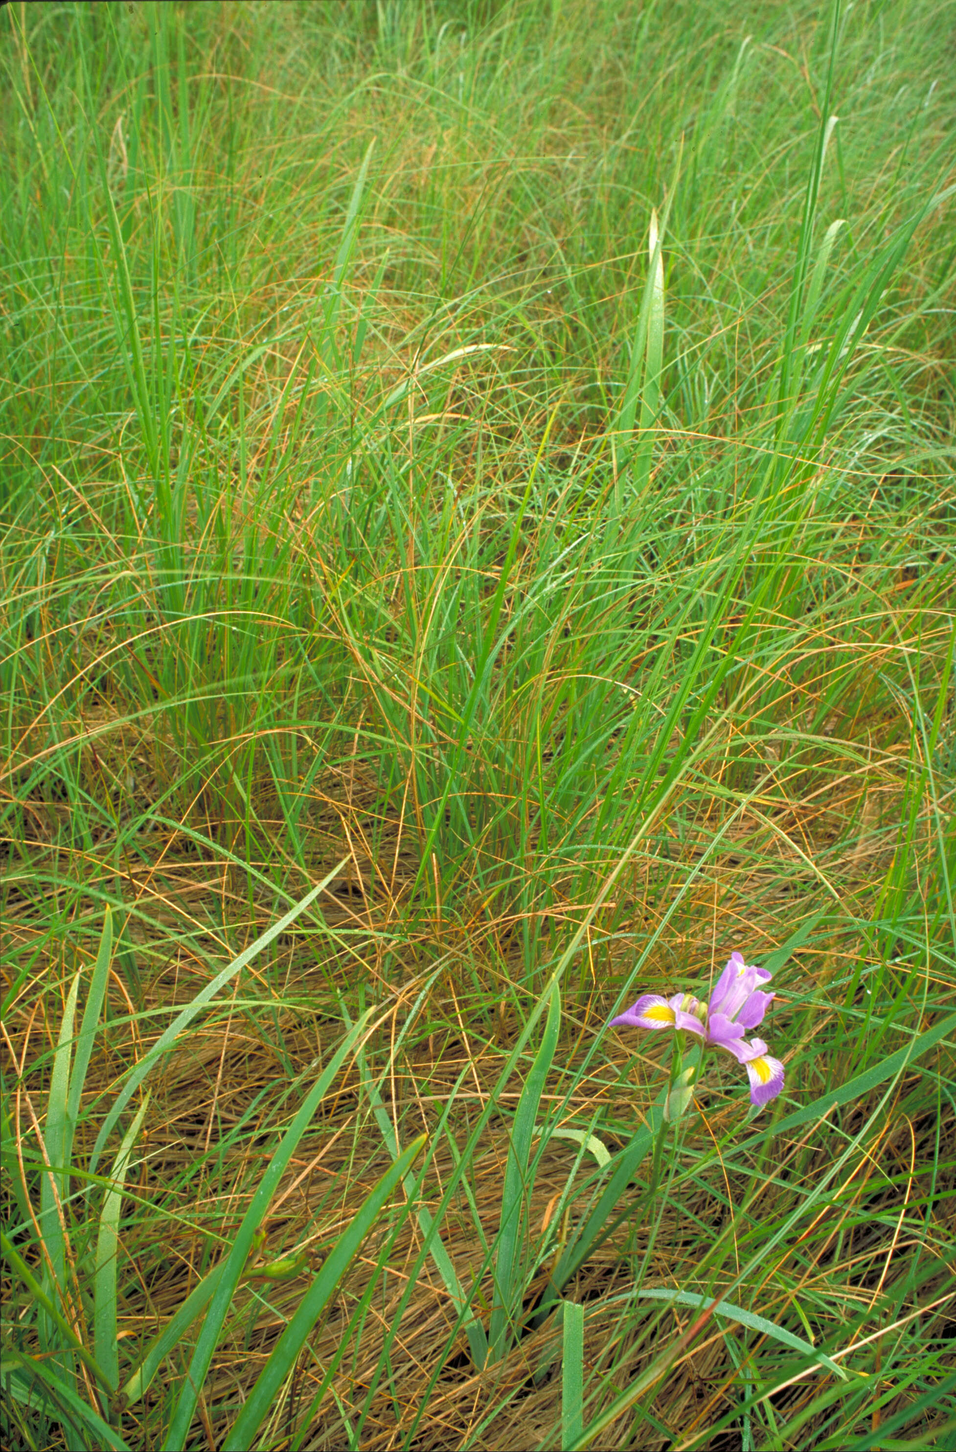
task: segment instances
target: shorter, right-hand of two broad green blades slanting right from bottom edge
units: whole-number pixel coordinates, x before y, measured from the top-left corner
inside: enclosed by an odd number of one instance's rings
[[[411,1170],[412,1163],[422,1150],[427,1138],[427,1134],[419,1134],[419,1137],[402,1151],[395,1165],[384,1172],[376,1188],[361,1202],[361,1207],[348,1225],[348,1230],[345,1230],[335,1241],[335,1246],[326,1256],[322,1269],[303,1295],[296,1314],[279,1337],[279,1342],[265,1362],[265,1366],[260,1372],[255,1385],[250,1391],[242,1411],[236,1417],[235,1424],[226,1437],[228,1446],[251,1448],[254,1445],[252,1439],[260,1427],[260,1423],[274,1404],[279,1388],[294,1366],[306,1337],[322,1314],[329,1298],[334,1295],[339,1281],[348,1270],[353,1257],[361,1247],[366,1236],[374,1225],[379,1211],[386,1204],[396,1185],[405,1179]]]

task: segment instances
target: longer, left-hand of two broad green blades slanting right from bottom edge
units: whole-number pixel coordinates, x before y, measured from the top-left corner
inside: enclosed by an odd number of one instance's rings
[[[332,1080],[347,1056],[351,1053],[354,1044],[364,1032],[373,1012],[374,1009],[370,1008],[361,1015],[354,1028],[350,1029],[339,1044],[331,1061],[319,1074],[302,1104],[302,1108],[286,1130],[279,1149],[273,1154],[268,1167],[263,1175],[255,1194],[252,1195],[250,1208],[242,1217],[242,1224],[236,1233],[232,1250],[226,1256],[222,1276],[216,1282],[212,1304],[206,1311],[206,1320],[203,1321],[203,1329],[199,1333],[199,1340],[186,1374],[186,1381],[180,1391],[180,1400],[173,1414],[165,1442],[162,1443],[164,1452],[181,1452],[186,1445],[186,1437],[189,1436],[190,1423],[193,1420],[193,1411],[196,1410],[196,1398],[199,1397],[199,1390],[206,1379],[206,1372],[209,1371],[209,1363],[219,1342],[222,1326],[232,1304],[232,1297],[235,1295],[235,1289],[239,1284],[239,1276],[245,1269],[245,1262],[250,1257],[252,1236],[265,1218],[271,1198],[276,1194],[276,1188],[284,1175],[289,1160],[294,1154],[302,1135],[309,1128],[315,1111],[328,1093]]]

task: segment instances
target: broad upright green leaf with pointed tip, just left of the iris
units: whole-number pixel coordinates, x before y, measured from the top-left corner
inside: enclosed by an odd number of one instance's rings
[[[525,1080],[511,1130],[505,1186],[502,1189],[502,1214],[495,1246],[495,1298],[489,1327],[489,1358],[496,1362],[505,1355],[511,1308],[515,1300],[515,1262],[518,1243],[524,1228],[525,1195],[529,1192],[529,1153],[534,1127],[541,1102],[541,1092],[557,1048],[561,1024],[561,995],[557,983],[551,983],[548,1018],[544,1037]]]

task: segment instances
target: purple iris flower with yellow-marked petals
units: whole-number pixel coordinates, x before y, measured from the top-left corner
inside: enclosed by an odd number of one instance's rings
[[[766,968],[753,967],[744,963],[740,953],[731,953],[708,1003],[692,993],[675,993],[670,999],[644,993],[611,1024],[618,1028],[682,1028],[698,1034],[706,1044],[725,1048],[747,1070],[750,1102],[760,1106],[783,1088],[779,1059],[770,1059],[762,1038],[744,1038],[747,1029],[757,1027],[773,999],[773,993],[763,993],[759,987],[769,982]]]

